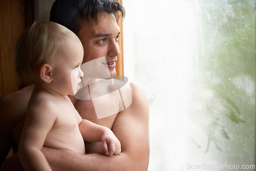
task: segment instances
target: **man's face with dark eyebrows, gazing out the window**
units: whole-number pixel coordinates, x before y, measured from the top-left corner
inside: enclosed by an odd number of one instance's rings
[[[78,37],[84,50],[82,62],[105,56],[105,65],[108,65],[110,75],[115,77],[115,62],[117,61],[117,56],[120,55],[118,45],[120,29],[114,14],[100,12],[97,17],[98,24],[87,22],[78,32]]]

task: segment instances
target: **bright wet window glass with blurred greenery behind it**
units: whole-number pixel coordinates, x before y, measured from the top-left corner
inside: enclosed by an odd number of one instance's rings
[[[124,76],[150,104],[148,170],[255,170],[255,1],[122,2]]]

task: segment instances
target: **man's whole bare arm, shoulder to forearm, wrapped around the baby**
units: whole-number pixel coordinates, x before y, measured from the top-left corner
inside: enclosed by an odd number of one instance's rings
[[[43,148],[53,170],[147,170],[150,154],[148,103],[144,91],[131,83],[132,104],[121,111],[112,131],[121,142],[120,155],[81,155],[70,151]]]

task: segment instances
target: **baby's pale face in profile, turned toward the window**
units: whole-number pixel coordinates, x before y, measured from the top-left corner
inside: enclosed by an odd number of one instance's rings
[[[83,59],[83,47],[78,40],[68,38],[57,54],[54,64],[53,81],[59,94],[74,95],[79,90],[83,72],[80,65]]]

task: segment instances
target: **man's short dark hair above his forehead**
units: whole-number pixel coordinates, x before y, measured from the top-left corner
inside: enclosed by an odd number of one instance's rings
[[[97,14],[105,12],[124,18],[123,6],[115,0],[56,0],[51,8],[50,21],[61,24],[76,35],[84,22],[98,23]]]

